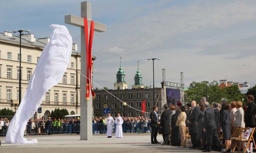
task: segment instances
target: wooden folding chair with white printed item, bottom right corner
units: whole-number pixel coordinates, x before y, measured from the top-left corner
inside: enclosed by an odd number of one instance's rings
[[[246,130],[249,130],[249,129],[250,129],[249,127],[242,128],[240,134],[245,133]],[[244,153],[246,153],[246,149],[249,147],[251,140],[253,141],[253,145],[255,146],[255,141],[254,141],[254,137],[253,137],[254,131],[255,131],[255,127],[252,129],[251,134],[248,139],[244,139],[242,136],[241,136],[241,138],[234,139],[235,144],[234,144],[232,152],[234,152],[236,148],[239,148],[238,152],[241,151],[241,148],[244,148]],[[247,145],[244,147],[245,142],[247,142]]]

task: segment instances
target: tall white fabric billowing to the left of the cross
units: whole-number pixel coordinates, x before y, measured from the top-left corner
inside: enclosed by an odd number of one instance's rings
[[[66,26],[52,24],[50,28],[54,29],[51,41],[44,47],[19,109],[12,118],[6,143],[37,143],[37,139],[28,141],[23,137],[27,122],[39,108],[44,94],[61,81],[68,67],[72,37]]]

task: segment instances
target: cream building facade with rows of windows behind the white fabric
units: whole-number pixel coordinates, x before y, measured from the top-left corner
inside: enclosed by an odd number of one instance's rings
[[[50,38],[36,39],[34,34],[24,34],[21,40],[22,55],[20,55],[20,37],[6,31],[0,33],[0,109],[9,108],[17,111],[19,94],[23,98],[42,50],[49,41]],[[20,60],[21,72],[19,72]],[[78,72],[80,72],[80,53],[77,51],[77,44],[73,44],[71,60],[63,79],[46,92],[40,106],[42,113],[35,112],[35,117],[47,117],[55,108],[66,108],[69,114],[80,114]],[[19,93],[19,73],[21,73],[21,93]]]

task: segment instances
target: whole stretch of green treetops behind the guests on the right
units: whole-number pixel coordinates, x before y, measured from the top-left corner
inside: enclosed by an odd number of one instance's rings
[[[209,103],[217,102],[220,103],[222,98],[226,98],[228,102],[231,101],[242,101],[244,94],[241,93],[238,86],[233,85],[227,88],[219,88],[217,81],[193,81],[188,90],[185,91],[185,102],[191,102],[195,100],[197,103],[200,102],[202,97],[206,97]]]

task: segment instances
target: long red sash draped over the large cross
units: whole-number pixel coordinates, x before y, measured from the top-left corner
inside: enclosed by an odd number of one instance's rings
[[[93,99],[96,97],[93,91],[92,85],[92,46],[93,46],[93,33],[94,33],[94,21],[91,21],[90,27],[90,37],[88,41],[88,22],[87,19],[84,19],[84,27],[85,27],[85,41],[86,41],[86,53],[87,53],[87,68],[86,68],[86,100],[89,100],[90,97],[90,89],[93,95]]]

